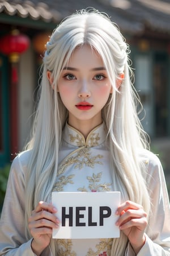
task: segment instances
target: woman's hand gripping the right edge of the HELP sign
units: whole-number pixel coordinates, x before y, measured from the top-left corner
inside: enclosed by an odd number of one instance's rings
[[[145,244],[145,228],[147,226],[147,214],[142,205],[126,201],[117,208],[118,218],[116,225],[128,237],[135,254],[138,254]]]

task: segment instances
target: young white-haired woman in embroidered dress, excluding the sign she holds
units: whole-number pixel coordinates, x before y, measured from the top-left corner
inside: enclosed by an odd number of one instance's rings
[[[32,139],[11,166],[0,255],[170,255],[164,174],[138,119],[128,53],[116,25],[96,10],[53,32]],[[52,191],[120,191],[120,238],[54,240]]]

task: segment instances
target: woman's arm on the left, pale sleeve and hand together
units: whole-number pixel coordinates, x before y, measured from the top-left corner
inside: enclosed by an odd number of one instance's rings
[[[25,180],[29,152],[17,156],[10,170],[0,221],[0,255],[51,255],[52,228],[58,227],[51,204],[40,202],[32,211],[28,226],[32,237],[25,236]]]

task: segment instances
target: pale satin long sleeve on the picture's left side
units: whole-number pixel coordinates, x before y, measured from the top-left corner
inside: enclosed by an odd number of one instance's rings
[[[24,174],[17,156],[10,170],[0,221],[0,255],[34,256],[24,230]]]

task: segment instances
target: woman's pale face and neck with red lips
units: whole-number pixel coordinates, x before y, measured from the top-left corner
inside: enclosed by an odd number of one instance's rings
[[[63,68],[58,93],[69,111],[69,124],[91,129],[101,123],[101,109],[112,92],[111,82],[99,54],[88,45],[78,47]]]

